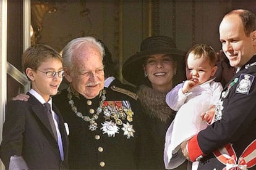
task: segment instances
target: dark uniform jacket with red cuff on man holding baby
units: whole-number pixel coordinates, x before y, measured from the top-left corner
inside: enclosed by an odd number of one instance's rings
[[[234,148],[236,163],[247,146],[256,139],[256,55],[242,67],[223,89],[216,105],[216,122],[198,133],[188,144],[189,156],[194,161],[202,155],[198,169],[223,169],[225,165],[213,155],[216,149],[226,144]],[[255,146],[252,148],[254,151]],[[206,155],[206,156],[205,156]],[[232,155],[230,155],[232,156]],[[245,156],[245,155],[243,155]],[[256,155],[252,155],[255,159]],[[247,168],[253,163],[248,163]],[[249,165],[250,164],[250,165]]]

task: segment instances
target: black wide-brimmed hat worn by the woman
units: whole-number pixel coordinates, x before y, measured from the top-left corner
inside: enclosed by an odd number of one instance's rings
[[[140,52],[129,57],[122,65],[122,76],[132,84],[145,83],[143,62],[149,55],[170,54],[174,60],[184,61],[186,52],[177,49],[175,42],[168,36],[150,36],[140,44]],[[179,65],[179,63],[178,63]]]

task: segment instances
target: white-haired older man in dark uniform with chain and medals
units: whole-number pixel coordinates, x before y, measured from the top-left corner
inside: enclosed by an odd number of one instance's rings
[[[53,100],[69,123],[69,167],[141,169],[150,148],[140,103],[133,93],[104,87],[103,54],[102,45],[88,36],[63,49],[70,86]]]

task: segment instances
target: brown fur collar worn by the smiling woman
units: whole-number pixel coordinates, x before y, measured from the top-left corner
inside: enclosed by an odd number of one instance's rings
[[[175,112],[165,102],[166,94],[142,85],[137,95],[146,115],[160,119],[163,123],[174,118]]]

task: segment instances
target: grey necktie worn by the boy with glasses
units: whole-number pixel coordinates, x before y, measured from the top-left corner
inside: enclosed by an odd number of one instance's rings
[[[56,131],[56,127],[55,127],[54,120],[53,120],[53,115],[51,113],[51,105],[49,103],[45,103],[45,109],[47,111],[47,116],[49,119],[49,123],[51,124],[51,129],[53,130],[54,137],[59,145],[59,153],[61,154],[61,160],[63,161],[64,160],[64,152],[63,152],[63,146],[62,146],[62,140],[61,140],[61,133],[59,132],[59,129],[58,129],[58,131]],[[56,120],[56,122],[58,124],[57,128],[59,128],[59,121],[58,121],[57,117],[58,117],[58,115],[54,114],[54,119]]]

